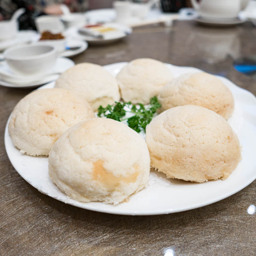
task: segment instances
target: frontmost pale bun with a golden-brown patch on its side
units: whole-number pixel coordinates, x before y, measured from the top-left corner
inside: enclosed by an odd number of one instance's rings
[[[120,203],[148,183],[149,171],[145,140],[107,118],[69,128],[49,154],[52,182],[80,202]]]

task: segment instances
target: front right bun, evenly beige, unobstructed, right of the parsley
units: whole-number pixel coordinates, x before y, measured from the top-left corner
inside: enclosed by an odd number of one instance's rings
[[[212,110],[170,108],[146,128],[151,166],[168,178],[196,182],[226,179],[241,160],[236,133]]]

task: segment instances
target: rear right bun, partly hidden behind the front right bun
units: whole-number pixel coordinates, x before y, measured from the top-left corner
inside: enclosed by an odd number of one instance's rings
[[[159,112],[191,104],[211,109],[227,120],[234,111],[232,92],[218,77],[205,72],[173,79],[160,91],[158,100]]]

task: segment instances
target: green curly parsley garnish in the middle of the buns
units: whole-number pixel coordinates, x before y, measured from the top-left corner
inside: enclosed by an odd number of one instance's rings
[[[161,107],[156,96],[150,99],[150,104],[144,106],[139,103],[133,105],[131,102],[115,102],[116,104],[108,105],[106,108],[100,106],[98,108],[99,117],[107,117],[116,121],[127,121],[127,124],[136,132],[140,132],[142,129],[146,131],[146,126],[151,122],[156,110]],[[125,117],[130,112],[133,114],[131,117]]]

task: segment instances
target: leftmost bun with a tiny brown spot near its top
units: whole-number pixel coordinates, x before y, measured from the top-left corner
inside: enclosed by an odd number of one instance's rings
[[[31,92],[15,106],[8,125],[14,146],[31,156],[48,156],[70,126],[94,118],[88,102],[68,90]]]

